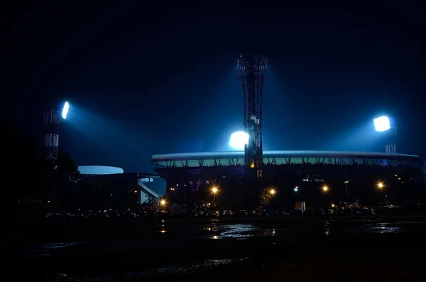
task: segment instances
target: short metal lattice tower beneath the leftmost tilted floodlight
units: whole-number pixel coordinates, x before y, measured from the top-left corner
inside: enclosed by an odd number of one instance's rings
[[[44,122],[47,127],[45,135],[45,148],[48,158],[58,157],[59,130],[62,116],[59,111],[50,110],[43,113]]]

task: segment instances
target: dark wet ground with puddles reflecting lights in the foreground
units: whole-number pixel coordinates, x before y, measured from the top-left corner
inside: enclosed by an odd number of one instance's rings
[[[422,278],[426,262],[423,217],[62,220],[1,230],[13,280],[405,281]]]

